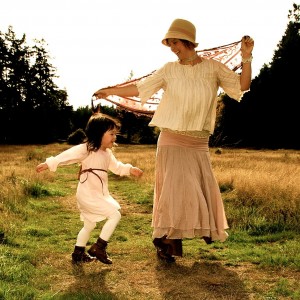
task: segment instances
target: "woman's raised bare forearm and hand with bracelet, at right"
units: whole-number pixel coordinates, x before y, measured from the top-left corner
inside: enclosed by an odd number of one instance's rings
[[[247,91],[250,88],[251,76],[252,76],[252,50],[254,47],[254,41],[250,36],[244,36],[242,38],[242,73],[240,76],[241,90]]]

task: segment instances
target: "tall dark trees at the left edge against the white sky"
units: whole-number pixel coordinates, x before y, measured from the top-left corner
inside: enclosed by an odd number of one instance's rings
[[[72,107],[54,83],[44,40],[0,32],[0,143],[48,143],[70,132]]]

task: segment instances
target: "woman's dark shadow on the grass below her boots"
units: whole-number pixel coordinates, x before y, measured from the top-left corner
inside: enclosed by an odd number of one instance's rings
[[[163,299],[250,299],[237,274],[216,262],[158,262],[156,276]]]

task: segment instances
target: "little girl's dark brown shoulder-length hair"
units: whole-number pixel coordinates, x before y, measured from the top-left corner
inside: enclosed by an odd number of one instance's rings
[[[101,140],[108,130],[119,130],[121,124],[118,120],[101,113],[93,114],[85,128],[88,151],[97,151],[101,147]]]

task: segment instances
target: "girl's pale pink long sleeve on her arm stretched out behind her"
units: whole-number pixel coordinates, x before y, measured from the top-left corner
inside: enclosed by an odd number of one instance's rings
[[[86,144],[76,145],[63,151],[57,156],[51,156],[46,159],[46,164],[50,171],[55,172],[58,166],[78,163],[88,155]]]

